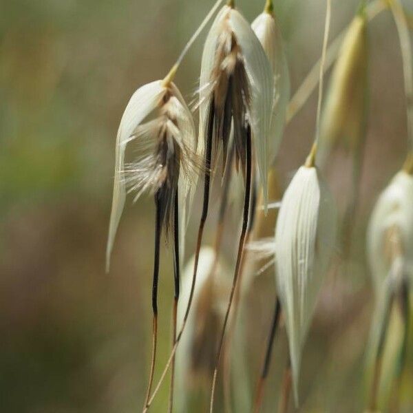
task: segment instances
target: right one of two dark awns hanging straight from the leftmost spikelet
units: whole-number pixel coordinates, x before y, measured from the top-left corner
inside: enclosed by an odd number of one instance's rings
[[[173,205],[173,310],[172,310],[172,347],[176,341],[176,316],[178,314],[178,301],[180,294],[180,263],[179,263],[179,198],[178,188],[175,192],[175,204]],[[171,366],[171,386],[169,388],[169,408],[168,412],[173,411],[173,384],[175,379],[175,356]]]

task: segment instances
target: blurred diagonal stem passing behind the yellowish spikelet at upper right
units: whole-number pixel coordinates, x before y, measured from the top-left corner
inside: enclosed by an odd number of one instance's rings
[[[387,5],[384,0],[373,0],[366,6],[366,15],[368,21],[374,19],[380,12],[385,10]],[[330,43],[328,50],[326,52],[326,60],[324,62],[324,73],[330,68],[332,63],[334,63],[337,54],[340,50],[341,42],[344,36],[346,36],[348,27],[340,32],[340,34]],[[286,123],[294,118],[294,116],[299,112],[299,110],[304,106],[304,103],[308,100],[310,95],[313,93],[314,89],[317,87],[319,82],[319,70],[320,70],[321,59],[315,63],[313,68],[308,72],[308,75],[301,83],[300,87],[295,92],[293,98],[291,98],[290,103],[288,103],[286,112]]]

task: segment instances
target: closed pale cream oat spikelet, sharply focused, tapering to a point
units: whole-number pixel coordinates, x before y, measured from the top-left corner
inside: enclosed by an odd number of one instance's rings
[[[282,199],[275,229],[276,282],[286,317],[295,402],[301,351],[335,246],[335,202],[315,167],[300,167]]]

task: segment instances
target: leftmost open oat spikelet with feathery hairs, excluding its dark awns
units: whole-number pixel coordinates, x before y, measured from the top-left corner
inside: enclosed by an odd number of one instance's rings
[[[127,144],[136,140],[138,159],[125,167]],[[186,224],[191,201],[191,176],[196,169],[195,125],[184,98],[173,83],[155,81],[140,87],[129,100],[116,138],[114,196],[109,222],[106,266],[125,205],[126,187],[136,193],[158,193],[165,229],[171,219],[174,194],[179,184],[180,209]],[[184,232],[184,231],[183,231]]]

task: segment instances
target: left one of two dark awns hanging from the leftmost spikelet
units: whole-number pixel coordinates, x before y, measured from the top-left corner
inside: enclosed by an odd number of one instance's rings
[[[156,218],[155,218],[155,251],[153,253],[153,284],[152,284],[152,355],[151,355],[151,370],[149,373],[149,383],[145,405],[151,394],[153,382],[153,372],[155,371],[156,361],[156,343],[158,339],[158,278],[159,278],[159,257],[160,257],[160,233],[162,231],[162,205],[160,200],[160,192],[155,195]]]

